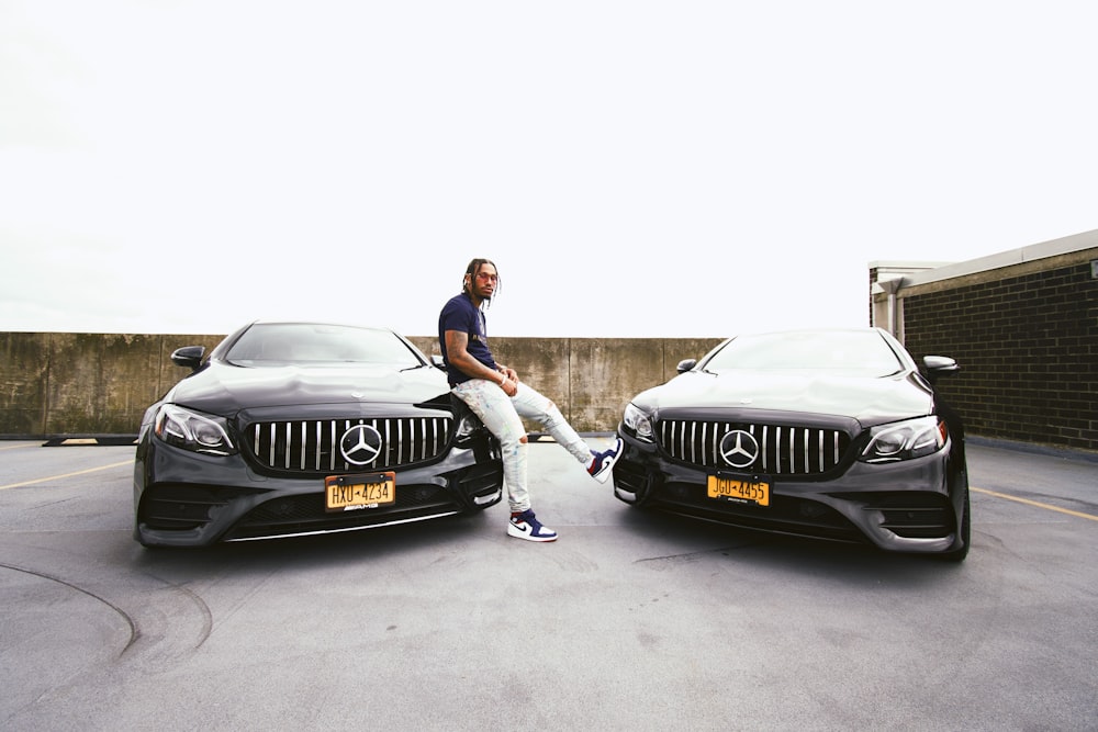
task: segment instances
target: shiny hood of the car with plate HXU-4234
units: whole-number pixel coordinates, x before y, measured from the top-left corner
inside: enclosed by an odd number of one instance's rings
[[[425,365],[400,371],[384,365],[325,364],[245,368],[210,363],[165,396],[209,414],[321,404],[421,404],[449,391],[446,374]]]

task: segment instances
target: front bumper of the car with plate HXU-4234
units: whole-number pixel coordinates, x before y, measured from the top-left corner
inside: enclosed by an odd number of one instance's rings
[[[204,455],[148,439],[134,464],[134,538],[202,547],[352,531],[470,513],[502,497],[503,466],[486,443],[396,471],[392,505],[328,513],[323,477],[262,475],[239,454]]]

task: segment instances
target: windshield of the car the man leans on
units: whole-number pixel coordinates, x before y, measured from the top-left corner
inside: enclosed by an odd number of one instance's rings
[[[396,369],[424,365],[407,344],[389,330],[305,323],[256,324],[225,360],[239,365],[372,363]]]

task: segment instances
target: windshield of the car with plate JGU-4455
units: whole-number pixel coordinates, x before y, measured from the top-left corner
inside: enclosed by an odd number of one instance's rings
[[[739,336],[702,364],[705,371],[826,371],[887,376],[904,367],[874,330],[791,331]]]

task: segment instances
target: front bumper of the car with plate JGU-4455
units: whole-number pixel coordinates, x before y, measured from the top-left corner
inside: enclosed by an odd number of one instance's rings
[[[963,460],[952,442],[923,458],[896,463],[852,461],[830,480],[769,476],[770,506],[707,495],[709,471],[666,460],[656,446],[621,433],[614,495],[636,505],[760,530],[832,541],[871,543],[895,552],[944,553],[962,545]]]

